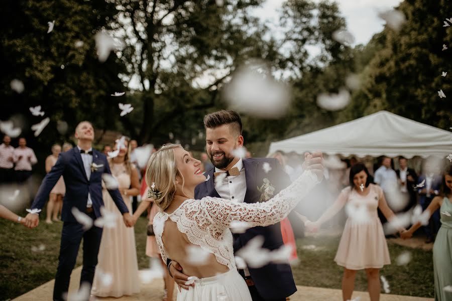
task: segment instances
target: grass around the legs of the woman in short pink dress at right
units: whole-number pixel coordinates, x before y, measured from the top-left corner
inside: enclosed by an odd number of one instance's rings
[[[334,262],[340,237],[305,237],[297,240],[299,264],[292,266],[295,283],[304,286],[318,286],[341,289],[344,268]],[[306,250],[302,246],[315,245],[321,249]],[[389,282],[391,293],[410,296],[433,297],[432,252],[412,249],[388,242],[391,264],[385,265],[380,274]],[[411,261],[398,266],[395,259],[403,251],[410,251]],[[357,273],[355,290],[367,291],[364,270]]]

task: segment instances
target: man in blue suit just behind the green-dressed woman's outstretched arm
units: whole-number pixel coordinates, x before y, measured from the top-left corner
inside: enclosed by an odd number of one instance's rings
[[[419,203],[422,206],[422,211],[427,209],[434,197],[439,194],[442,184],[442,177],[439,173],[434,173],[434,166],[431,161],[427,160],[424,163],[423,173],[418,179],[418,185],[424,182],[424,186],[417,189],[419,194]],[[433,242],[436,233],[441,227],[439,209],[433,212],[428,225],[423,226],[425,235],[427,236],[426,243]]]

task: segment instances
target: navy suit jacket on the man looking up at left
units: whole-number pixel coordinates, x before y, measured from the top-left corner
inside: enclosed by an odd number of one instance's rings
[[[100,207],[103,206],[102,174],[111,174],[111,172],[105,155],[94,149],[92,153],[92,162],[96,165],[103,166],[92,171],[89,179],[86,177],[83,161],[77,147],[61,153],[52,170],[42,181],[31,208],[41,209],[46,203],[50,191],[60,176],[63,176],[66,194],[64,195],[61,219],[65,222],[76,222],[71,209],[72,207],[76,207],[81,212],[85,212],[86,203],[88,202],[88,192],[91,196],[94,214],[96,217],[99,217],[101,215]],[[108,192],[122,214],[129,212],[118,189],[108,190]]]

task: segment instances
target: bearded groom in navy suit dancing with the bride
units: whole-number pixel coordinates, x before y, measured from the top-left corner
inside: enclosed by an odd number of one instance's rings
[[[290,184],[289,176],[283,172],[276,159],[242,159],[233,155],[238,147],[243,146],[242,120],[235,111],[218,111],[204,117],[206,129],[206,150],[214,168],[205,172],[208,181],[199,184],[195,189],[197,200],[205,197],[221,197],[238,203],[256,203],[263,200],[258,190],[267,178],[275,188],[276,195]],[[268,164],[268,166],[267,166]],[[266,173],[264,166],[271,168]],[[227,173],[222,182],[214,184],[215,176]],[[271,197],[271,196],[270,196]],[[254,227],[243,234],[234,234],[234,252],[245,246],[256,236],[264,238],[263,248],[270,251],[283,246],[280,223],[267,227]],[[181,273],[182,268],[175,261],[168,261],[168,270],[179,286],[187,288],[183,283],[187,275]],[[250,290],[253,301],[286,300],[297,289],[292,270],[288,263],[270,263],[259,268],[239,269]]]

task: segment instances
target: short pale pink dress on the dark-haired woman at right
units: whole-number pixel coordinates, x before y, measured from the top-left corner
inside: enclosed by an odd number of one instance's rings
[[[377,213],[378,200],[383,196],[383,190],[374,184],[369,187],[366,196],[358,194],[350,186],[344,188],[339,195],[339,198],[346,202],[346,206],[366,206],[369,216],[366,223],[349,217],[337,248],[334,261],[352,270],[382,268],[383,265],[391,264],[388,244]]]

